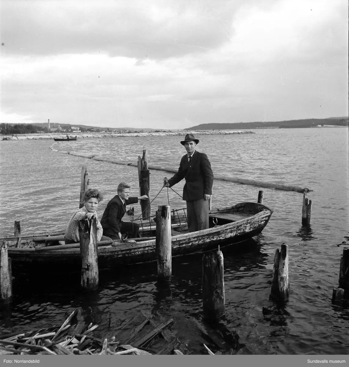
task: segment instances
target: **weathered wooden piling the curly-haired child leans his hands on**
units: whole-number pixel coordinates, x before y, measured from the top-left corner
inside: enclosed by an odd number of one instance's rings
[[[81,254],[81,288],[94,291],[98,288],[97,257],[97,220],[92,218],[79,221],[80,254]]]

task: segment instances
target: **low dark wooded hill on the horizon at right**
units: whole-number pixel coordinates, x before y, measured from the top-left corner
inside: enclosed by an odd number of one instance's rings
[[[306,119],[289,121],[266,122],[238,122],[238,123],[210,123],[189,127],[185,130],[236,130],[236,129],[260,129],[260,128],[300,128],[316,127],[318,125],[349,126],[348,117],[329,117],[327,119]]]

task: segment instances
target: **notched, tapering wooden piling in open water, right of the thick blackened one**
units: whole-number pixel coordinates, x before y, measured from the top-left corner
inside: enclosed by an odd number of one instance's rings
[[[281,245],[281,251],[278,248],[275,250],[270,298],[276,301],[290,299],[289,247],[284,243]]]

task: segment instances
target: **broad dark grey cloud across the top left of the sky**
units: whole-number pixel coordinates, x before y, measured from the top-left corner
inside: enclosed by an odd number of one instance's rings
[[[222,24],[231,20],[232,2],[221,4],[6,1],[1,39],[6,54],[16,55],[107,52],[158,59],[203,53],[225,41]]]

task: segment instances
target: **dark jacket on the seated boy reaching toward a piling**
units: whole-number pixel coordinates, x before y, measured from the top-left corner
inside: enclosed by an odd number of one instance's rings
[[[124,205],[122,204],[120,196],[115,195],[107,204],[102,220],[100,221],[100,224],[102,224],[103,227],[103,232],[117,236],[117,233],[120,232],[119,223],[126,213],[126,205],[134,203],[138,203],[138,197],[129,197],[125,200]]]

